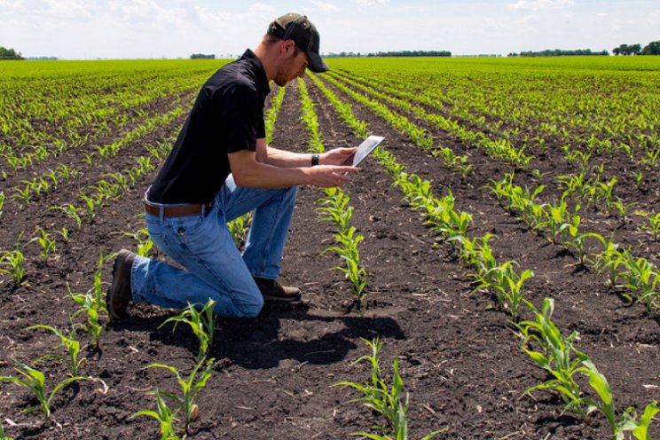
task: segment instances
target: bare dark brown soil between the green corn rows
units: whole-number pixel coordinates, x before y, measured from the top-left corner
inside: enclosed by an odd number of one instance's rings
[[[356,145],[358,139],[320,91],[310,82],[308,88],[318,104],[326,148]],[[340,91],[335,92],[350,101]],[[578,331],[576,345],[609,379],[618,412],[629,405],[640,412],[660,397],[658,321],[648,316],[643,305],[626,303],[611,292],[601,274],[577,268],[573,255],[529,232],[499,206],[483,185],[507,172],[506,166],[434,133],[443,138],[443,145],[470,154],[475,170],[470,177],[460,177],[368,110],[353,104],[358,119],[365,120],[373,133],[386,137],[384,147],[407,171],[433,181],[436,196],[452,190],[457,207],[474,215],[475,235],[497,234],[492,245],[500,261],[515,259],[520,268],[534,271],[528,282],[528,298],[537,305],[545,297],[554,298],[554,321],[564,334]],[[272,145],[306,149],[299,107],[298,89],[293,83],[287,90]],[[174,134],[176,126],[142,142]],[[114,164],[86,170],[85,182],[87,174],[100,177],[111,168],[123,169],[130,156],[142,154],[141,144],[131,148]],[[561,154],[548,155],[542,167],[565,168],[565,164]],[[48,168],[49,163],[40,164],[35,175]],[[135,248],[136,242],[122,232],[144,227],[140,198],[152,177],[108,204],[80,230],[63,213],[47,210],[53,204],[73,202],[78,190],[74,185],[59,188],[23,210],[6,202],[0,216],[0,245],[4,250],[14,248],[20,232],[26,231],[20,246],[26,255],[27,276],[22,285],[9,276],[0,279],[0,374],[16,375],[12,358],[28,363],[45,354],[64,354],[56,336],[24,327],[45,324],[67,328],[69,315],[75,311],[67,286],[74,292],[87,291],[92,287],[99,252],[109,255],[120,248]],[[355,208],[351,224],[365,236],[359,248],[369,277],[364,316],[358,314],[342,273],[333,270],[341,263],[339,258],[322,254],[333,233],[316,211],[316,200],[323,194],[314,188],[301,188],[282,265],[283,281],[303,289],[303,303],[267,304],[255,319],[220,319],[210,353],[216,358],[214,374],[200,391],[199,420],[193,422],[191,438],[336,440],[383,423],[365,406],[350,403],[350,399],[360,397],[356,391],[332,387],[340,381],[370,380],[369,365],[354,361],[370,354],[361,339],[375,337],[383,342],[381,367],[385,377],[391,377],[394,358],[398,358],[409,393],[411,439],[444,428],[446,431],[436,438],[610,438],[601,413],[594,413],[587,425],[571,413],[562,414],[562,400],[554,394],[537,391],[523,397],[525,389],[546,380],[546,373],[520,349],[521,341],[507,312],[493,310],[490,296],[472,293],[469,269],[451,248],[439,242],[420,213],[406,206],[402,193],[391,184],[384,169],[369,159],[344,188]],[[640,200],[636,190],[620,190],[619,196]],[[608,221],[606,214],[594,212],[585,215],[584,223],[603,232],[611,229]],[[53,236],[62,226],[70,231],[69,240],[59,238],[57,251],[46,262],[41,261],[36,243],[27,244],[27,236],[36,226]],[[634,244],[640,256],[658,254],[658,245],[633,224],[617,234],[617,240]],[[110,281],[110,263],[103,265],[102,280],[105,289]],[[176,314],[175,310],[141,304],[130,311],[131,318],[122,322],[108,323],[105,319],[101,350],[85,351],[89,359],[81,372],[102,379],[107,389],[100,381],[81,381],[63,389],[53,400],[51,421],[43,423],[39,413],[21,413],[35,404],[27,390],[10,383],[0,385],[0,415],[8,436],[160,437],[156,420],[130,420],[130,416],[140,410],[155,410],[155,399],[148,391],[177,392],[177,382],[165,370],[144,367],[158,362],[189,373],[196,362],[197,340],[185,326],[174,332],[171,326],[159,328]],[[79,336],[89,342],[82,331]],[[46,373],[47,389],[66,377],[67,366],[59,360],[37,365]],[[651,433],[660,436],[660,423],[652,424]]]

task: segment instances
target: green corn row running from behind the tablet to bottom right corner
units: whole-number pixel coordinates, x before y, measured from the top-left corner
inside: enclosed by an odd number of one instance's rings
[[[325,87],[322,90],[331,102],[338,102],[330,90]],[[338,113],[342,114],[344,119],[351,117],[351,114],[345,111],[345,106],[340,104],[337,107]],[[357,125],[355,122],[349,123],[353,127]],[[459,250],[464,263],[477,269],[474,275],[477,280],[476,289],[485,287],[494,291],[499,305],[507,301],[513,322],[523,336],[522,350],[530,355],[538,366],[553,375],[552,379],[527,389],[525,394],[537,389],[554,390],[564,400],[565,410],[577,413],[587,423],[590,422],[589,416],[593,411],[601,411],[612,429],[612,438],[623,438],[625,431],[632,431],[638,439],[647,438],[648,425],[658,413],[657,403],[648,404],[639,420],[633,408],[627,408],[620,417],[617,416],[607,379],[585,353],[573,347],[577,332],[564,337],[552,322],[553,300],[546,298],[543,308],[539,310],[524,299],[524,280],[532,276],[531,271],[517,274],[514,270],[514,262],[497,263],[488,244],[491,234],[470,239],[466,232],[472,216],[453,210],[451,194],[441,200],[435,199],[430,192],[428,181],[407,175],[403,166],[396,163],[391,153],[378,151],[375,154],[395,179],[395,183],[402,188],[405,199],[413,207],[425,213],[428,218],[427,223],[431,224],[446,242],[451,243],[453,248]],[[520,321],[519,309],[523,306],[533,313],[534,320]],[[536,346],[534,349],[530,348],[532,342],[538,343],[538,349]],[[574,360],[573,357],[577,359]],[[576,377],[578,374],[584,374],[589,378],[589,384],[600,400],[585,397],[578,385]]]

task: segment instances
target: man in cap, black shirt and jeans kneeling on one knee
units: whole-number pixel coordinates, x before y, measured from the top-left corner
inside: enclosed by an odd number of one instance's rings
[[[326,72],[318,49],[316,27],[288,13],[271,23],[255,51],[248,49],[204,84],[145,193],[153,242],[185,270],[122,249],[106,296],[113,318],[124,318],[131,302],[182,309],[208,298],[216,301],[219,315],[255,317],[264,299],[300,298],[298,288],[277,281],[297,185],[346,183],[358,169],[341,164],[355,148],[321,154],[271,148],[263,104],[269,81],[283,87],[308,67]],[[241,255],[227,222],[250,211]]]

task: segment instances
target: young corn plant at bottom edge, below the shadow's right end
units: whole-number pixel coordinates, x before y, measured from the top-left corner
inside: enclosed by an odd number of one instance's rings
[[[371,383],[361,384],[358,382],[342,381],[335,383],[333,387],[350,387],[357,389],[363,397],[351,400],[350,402],[362,402],[367,408],[372,409],[385,419],[385,425],[376,425],[373,428],[380,434],[368,432],[357,432],[352,436],[365,436],[374,440],[407,440],[408,438],[408,420],[406,413],[408,411],[408,394],[404,392],[404,381],[398,372],[398,359],[394,359],[391,386],[383,379],[380,364],[380,352],[382,342],[376,338],[368,341],[361,338],[372,350],[370,356],[358,358],[353,365],[362,361],[368,361],[372,367]],[[429,440],[442,432],[442,430],[433,432],[424,436],[422,440]]]

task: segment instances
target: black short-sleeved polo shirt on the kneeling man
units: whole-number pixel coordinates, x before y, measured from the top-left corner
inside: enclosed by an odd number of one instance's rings
[[[227,153],[255,151],[256,139],[265,138],[263,104],[270,90],[261,60],[249,49],[211,76],[153,182],[149,200],[214,200],[231,172]]]

